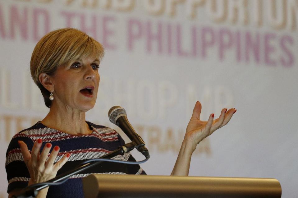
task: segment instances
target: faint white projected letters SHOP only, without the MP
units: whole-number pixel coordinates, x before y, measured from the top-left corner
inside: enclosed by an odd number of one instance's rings
[[[108,111],[111,105],[119,104],[129,109],[130,116],[144,120],[165,119],[168,109],[177,104],[179,92],[170,81],[153,82],[131,78],[120,81],[105,76],[100,83],[99,99],[104,99],[103,93],[109,93],[110,90],[112,95],[109,95],[109,102],[95,108]]]

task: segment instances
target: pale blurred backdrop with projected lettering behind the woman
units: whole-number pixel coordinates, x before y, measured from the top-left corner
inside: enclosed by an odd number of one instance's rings
[[[171,173],[199,100],[202,120],[237,113],[197,146],[191,176],[276,178],[283,198],[297,196],[297,0],[0,0],[0,197],[11,137],[48,112],[31,53],[62,27],[104,45],[87,120],[128,141],[107,115],[124,107],[150,151],[148,174]]]

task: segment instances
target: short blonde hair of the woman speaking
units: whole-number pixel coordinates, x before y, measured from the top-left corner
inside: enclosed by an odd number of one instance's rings
[[[103,46],[85,32],[74,28],[54,30],[39,40],[31,56],[30,71],[48,108],[51,106],[50,92],[39,82],[39,74],[44,72],[52,76],[60,65],[89,56],[102,60]]]

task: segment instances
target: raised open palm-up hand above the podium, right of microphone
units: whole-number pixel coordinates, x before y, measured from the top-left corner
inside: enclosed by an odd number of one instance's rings
[[[184,140],[186,141],[186,145],[188,145],[192,151],[195,150],[200,141],[204,140],[207,136],[210,136],[217,129],[225,126],[236,112],[235,108],[229,110],[224,108],[217,119],[214,119],[214,113],[212,113],[210,114],[208,121],[202,121],[200,120],[201,110],[202,105],[198,101],[195,104],[192,116],[186,127]]]

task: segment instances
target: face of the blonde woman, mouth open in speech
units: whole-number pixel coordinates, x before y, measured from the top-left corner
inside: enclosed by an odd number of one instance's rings
[[[55,89],[52,103],[84,112],[93,108],[99,86],[98,69],[99,60],[94,57],[60,65],[51,79]]]

